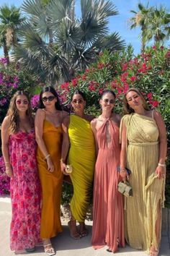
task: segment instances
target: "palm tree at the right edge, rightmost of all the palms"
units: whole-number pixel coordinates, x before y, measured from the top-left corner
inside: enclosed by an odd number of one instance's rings
[[[170,13],[165,7],[156,7],[151,12],[148,30],[145,32],[146,41],[154,39],[155,43],[168,40],[170,35]]]

